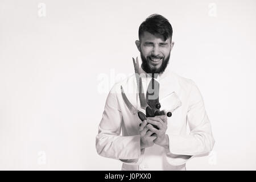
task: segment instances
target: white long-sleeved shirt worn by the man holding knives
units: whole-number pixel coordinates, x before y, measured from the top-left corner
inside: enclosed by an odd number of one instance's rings
[[[145,73],[141,68],[140,71]],[[142,76],[144,92],[150,80],[151,77],[146,73]],[[141,120],[137,114],[131,113],[121,96],[122,85],[131,104],[145,113],[140,107],[135,74],[116,83],[109,92],[98,126],[96,150],[101,156],[121,160],[122,170],[185,170],[188,160],[196,155],[207,154],[214,146],[204,101],[195,82],[168,69],[156,80],[160,85],[160,110],[172,110],[177,102],[180,103],[172,111],[172,116],[168,117],[168,150],[157,144],[141,150]],[[170,95],[175,95],[176,100]]]

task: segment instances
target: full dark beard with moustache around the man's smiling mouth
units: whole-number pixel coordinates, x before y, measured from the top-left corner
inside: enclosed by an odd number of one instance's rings
[[[159,68],[151,68],[150,65],[148,64],[148,62],[150,61],[150,57],[154,57],[154,56],[144,57],[141,53],[142,69],[146,73],[152,73],[152,74],[155,74],[155,73],[156,74],[161,74],[161,73],[163,73],[166,70],[166,67],[169,63],[170,53],[167,57],[163,57],[162,65]],[[155,57],[155,58],[157,58],[157,57]]]

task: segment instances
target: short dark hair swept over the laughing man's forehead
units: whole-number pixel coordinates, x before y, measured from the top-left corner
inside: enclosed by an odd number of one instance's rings
[[[141,40],[144,32],[150,32],[153,35],[163,35],[164,41],[168,38],[172,39],[172,26],[170,22],[159,14],[152,14],[142,22],[141,26],[139,26],[139,40]]]

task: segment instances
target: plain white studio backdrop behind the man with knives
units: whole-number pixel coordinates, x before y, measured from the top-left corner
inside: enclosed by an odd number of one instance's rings
[[[256,1],[0,0],[0,169],[119,170],[98,156],[106,96],[139,24],[174,29],[170,67],[204,97],[216,144],[187,169],[256,169]]]

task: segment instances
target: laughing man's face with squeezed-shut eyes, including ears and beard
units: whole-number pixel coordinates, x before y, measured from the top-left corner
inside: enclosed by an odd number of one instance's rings
[[[163,73],[170,59],[172,46],[171,38],[144,32],[141,40],[136,42],[141,52],[142,68],[146,73]]]

